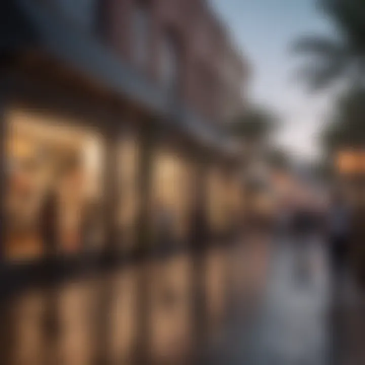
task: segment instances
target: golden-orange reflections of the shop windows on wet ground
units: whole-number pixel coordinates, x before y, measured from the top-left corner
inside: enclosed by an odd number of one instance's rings
[[[240,243],[204,254],[205,342],[220,337],[231,299],[248,300],[263,281],[262,248]],[[197,350],[193,266],[181,253],[12,299],[2,311],[2,363],[128,364],[141,340],[147,363],[190,363]]]

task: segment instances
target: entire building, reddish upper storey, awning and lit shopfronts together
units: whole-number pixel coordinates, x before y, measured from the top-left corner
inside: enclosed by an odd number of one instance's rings
[[[213,237],[242,209],[223,125],[248,68],[204,1],[3,2],[2,258],[113,257]],[[148,238],[147,238],[148,237]],[[151,238],[152,237],[152,238]]]

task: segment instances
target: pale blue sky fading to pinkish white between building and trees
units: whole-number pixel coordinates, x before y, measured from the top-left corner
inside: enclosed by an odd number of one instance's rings
[[[289,52],[298,36],[331,31],[315,0],[210,1],[253,67],[249,94],[273,107],[283,119],[277,140],[295,154],[317,156],[316,135],[330,96],[312,95],[294,80],[301,61]]]

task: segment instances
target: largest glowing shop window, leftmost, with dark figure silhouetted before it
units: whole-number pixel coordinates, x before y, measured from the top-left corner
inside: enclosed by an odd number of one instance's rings
[[[75,254],[102,241],[101,137],[42,114],[8,114],[5,254]]]

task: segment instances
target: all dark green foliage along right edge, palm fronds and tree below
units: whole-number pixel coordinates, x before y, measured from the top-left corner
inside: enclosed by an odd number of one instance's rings
[[[334,82],[347,86],[335,102],[334,113],[322,132],[331,153],[342,147],[365,144],[365,0],[318,0],[319,10],[336,30],[328,36],[306,36],[293,51],[307,55],[301,76],[313,88]]]

